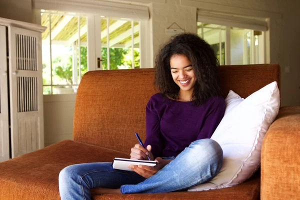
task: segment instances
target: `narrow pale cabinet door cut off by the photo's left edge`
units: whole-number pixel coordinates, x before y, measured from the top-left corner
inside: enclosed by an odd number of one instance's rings
[[[0,161],[9,159],[6,27],[0,25]]]

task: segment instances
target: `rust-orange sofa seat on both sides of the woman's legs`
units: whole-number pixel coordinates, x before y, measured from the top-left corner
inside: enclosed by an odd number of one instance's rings
[[[63,140],[40,150],[0,162],[0,199],[59,200],[58,174],[75,163],[111,161],[128,154],[73,140]],[[225,189],[201,192],[96,195],[94,199],[257,199],[259,173],[250,180]]]

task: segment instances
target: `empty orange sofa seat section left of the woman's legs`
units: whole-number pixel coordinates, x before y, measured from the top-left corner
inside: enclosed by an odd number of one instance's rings
[[[112,161],[127,153],[73,140],[0,162],[0,199],[60,199],[58,174],[64,167],[84,162]],[[51,197],[51,198],[49,198]]]

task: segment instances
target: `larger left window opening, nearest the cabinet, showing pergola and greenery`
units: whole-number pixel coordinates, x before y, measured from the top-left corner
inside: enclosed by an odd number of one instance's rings
[[[87,71],[86,16],[41,12],[43,94],[73,93]]]

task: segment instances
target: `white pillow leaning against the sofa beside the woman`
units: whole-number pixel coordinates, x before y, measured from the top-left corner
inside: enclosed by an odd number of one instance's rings
[[[233,186],[248,179],[260,165],[262,139],[279,110],[277,82],[264,86],[245,99],[230,90],[225,102],[224,117],[211,136],[223,150],[221,170],[209,182],[188,191]]]

